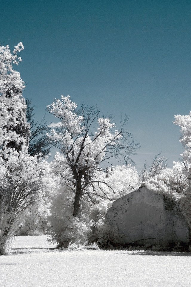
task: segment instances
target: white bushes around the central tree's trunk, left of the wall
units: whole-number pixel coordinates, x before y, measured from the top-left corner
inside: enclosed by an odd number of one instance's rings
[[[68,174],[62,175],[64,178],[70,178]],[[73,243],[86,244],[97,241],[102,243],[107,233],[104,222],[108,208],[115,199],[139,186],[138,173],[135,167],[130,165],[108,168],[107,172],[99,171],[96,180],[97,186],[89,186],[88,193],[81,196],[80,212],[78,217],[74,217],[75,195],[69,184],[63,186],[65,180],[60,179],[60,188],[54,196],[49,217],[50,240],[58,246],[67,247]]]

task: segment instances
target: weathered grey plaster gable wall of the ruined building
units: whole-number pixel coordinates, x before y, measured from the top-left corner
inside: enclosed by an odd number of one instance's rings
[[[117,199],[107,212],[111,242],[126,245],[189,243],[189,228],[172,199],[141,187]]]

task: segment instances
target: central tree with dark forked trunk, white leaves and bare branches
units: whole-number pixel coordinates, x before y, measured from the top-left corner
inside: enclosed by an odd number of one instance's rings
[[[70,96],[55,99],[47,110],[60,120],[50,134],[51,141],[60,149],[54,159],[54,170],[74,195],[73,216],[77,217],[83,196],[93,200],[93,196],[101,196],[98,190],[107,196],[101,184],[108,184],[99,177],[104,164],[113,158],[131,161],[130,154],[138,145],[131,133],[124,130],[127,117],[117,130],[110,118],[100,117],[96,106],[82,104],[77,110]]]

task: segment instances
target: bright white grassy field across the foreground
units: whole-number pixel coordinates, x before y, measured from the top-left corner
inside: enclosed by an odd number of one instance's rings
[[[191,286],[191,254],[54,247],[45,235],[16,237],[0,257],[0,286]]]

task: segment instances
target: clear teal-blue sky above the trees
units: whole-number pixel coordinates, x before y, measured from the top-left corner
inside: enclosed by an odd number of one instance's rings
[[[161,152],[168,166],[183,151],[174,115],[191,110],[191,1],[1,0],[0,42],[13,50],[35,117],[62,94],[97,105],[140,149],[140,170]]]

